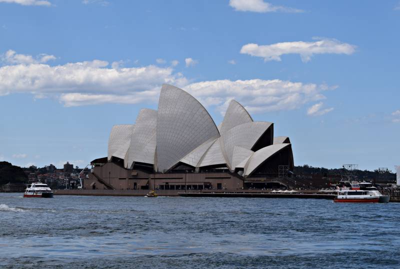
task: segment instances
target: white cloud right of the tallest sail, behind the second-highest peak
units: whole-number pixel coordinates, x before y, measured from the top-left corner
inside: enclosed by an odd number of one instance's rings
[[[214,80],[191,83],[184,87],[206,106],[215,105],[222,114],[227,102],[234,98],[250,112],[291,110],[305,103],[324,99],[326,85],[287,80]]]

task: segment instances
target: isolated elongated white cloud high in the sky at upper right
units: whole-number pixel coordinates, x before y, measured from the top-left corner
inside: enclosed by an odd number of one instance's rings
[[[334,53],[352,54],[355,45],[340,42],[336,39],[322,38],[313,42],[294,41],[281,42],[270,45],[245,44],[241,47],[240,53],[251,56],[263,57],[264,61],[280,61],[283,54],[295,53],[301,56],[301,60],[306,62],[311,59],[313,54]]]

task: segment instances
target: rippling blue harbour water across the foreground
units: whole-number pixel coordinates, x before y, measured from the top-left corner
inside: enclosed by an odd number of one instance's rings
[[[400,203],[0,193],[0,267],[400,267]]]

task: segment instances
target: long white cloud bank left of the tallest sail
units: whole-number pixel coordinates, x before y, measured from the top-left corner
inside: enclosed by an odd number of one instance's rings
[[[173,68],[155,65],[108,67],[92,60],[51,66],[43,63],[0,66],[0,95],[29,92],[56,96],[65,106],[118,102],[152,102],[162,83],[182,86],[187,80]]]

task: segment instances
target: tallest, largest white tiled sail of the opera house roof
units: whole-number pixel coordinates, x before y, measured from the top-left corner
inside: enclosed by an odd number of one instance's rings
[[[185,155],[210,138],[218,129],[205,108],[189,93],[162,85],[157,112],[158,170],[170,169]]]

